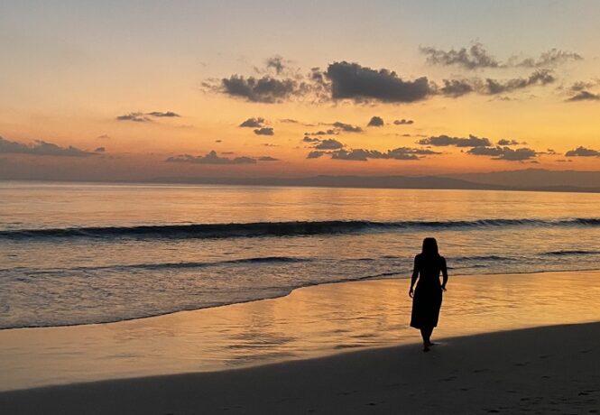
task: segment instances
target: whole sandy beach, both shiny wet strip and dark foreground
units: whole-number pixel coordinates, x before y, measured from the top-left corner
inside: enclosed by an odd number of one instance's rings
[[[119,323],[2,330],[0,408],[595,413],[599,273],[455,277],[427,354],[407,327],[407,280],[325,284]]]

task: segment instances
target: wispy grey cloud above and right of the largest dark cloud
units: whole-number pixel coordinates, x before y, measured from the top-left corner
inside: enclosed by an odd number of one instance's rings
[[[498,68],[501,66],[500,62],[485,51],[484,46],[479,42],[473,43],[468,50],[461,48],[458,51],[454,49],[442,51],[425,46],[420,47],[420,51],[427,56],[427,61],[433,65],[456,65],[465,69]]]

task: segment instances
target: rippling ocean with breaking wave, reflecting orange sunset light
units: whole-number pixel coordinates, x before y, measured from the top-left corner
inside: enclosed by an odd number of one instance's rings
[[[0,182],[0,328],[144,318],[410,278],[600,268],[600,194]]]

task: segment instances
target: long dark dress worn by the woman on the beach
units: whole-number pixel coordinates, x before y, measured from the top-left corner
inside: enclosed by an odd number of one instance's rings
[[[442,270],[446,272],[446,259],[443,256],[415,256],[413,273],[419,273],[419,281],[412,299],[411,327],[438,326],[439,308],[442,305],[439,274]]]

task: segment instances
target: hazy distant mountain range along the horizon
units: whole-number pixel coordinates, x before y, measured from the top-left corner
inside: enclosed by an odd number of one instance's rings
[[[157,178],[153,183],[310,186],[363,189],[489,189],[600,192],[600,171],[527,169],[445,176],[313,176],[304,178]]]

